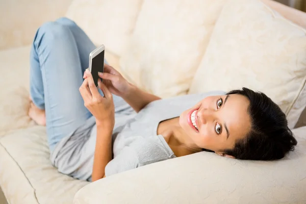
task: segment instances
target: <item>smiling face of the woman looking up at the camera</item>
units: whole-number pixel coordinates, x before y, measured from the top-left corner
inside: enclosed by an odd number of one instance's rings
[[[223,155],[250,130],[248,106],[249,100],[240,94],[209,96],[184,111],[180,125],[198,147]]]

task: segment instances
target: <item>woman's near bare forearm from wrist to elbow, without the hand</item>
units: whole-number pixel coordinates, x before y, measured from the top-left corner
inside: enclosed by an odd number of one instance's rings
[[[92,182],[105,177],[105,167],[112,160],[112,126],[97,123]]]

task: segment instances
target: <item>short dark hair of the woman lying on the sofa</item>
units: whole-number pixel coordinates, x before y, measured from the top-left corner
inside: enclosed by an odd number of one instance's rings
[[[297,144],[285,113],[266,94],[248,88],[233,90],[226,95],[240,94],[249,99],[247,112],[251,130],[224,153],[241,160],[276,160],[285,157]]]

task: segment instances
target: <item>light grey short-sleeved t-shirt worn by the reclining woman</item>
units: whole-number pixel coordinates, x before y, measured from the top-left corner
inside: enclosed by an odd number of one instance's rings
[[[164,137],[157,135],[159,123],[179,117],[207,96],[223,94],[214,91],[160,99],[152,101],[135,115],[117,115],[112,135],[113,160],[105,168],[106,176],[175,158]],[[92,117],[56,145],[51,155],[53,164],[62,173],[90,181],[95,138],[96,126]]]

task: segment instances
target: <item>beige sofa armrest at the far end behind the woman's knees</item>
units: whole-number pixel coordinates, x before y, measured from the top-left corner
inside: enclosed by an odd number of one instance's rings
[[[71,1],[2,1],[0,50],[30,44],[37,28],[45,21],[64,16]]]

